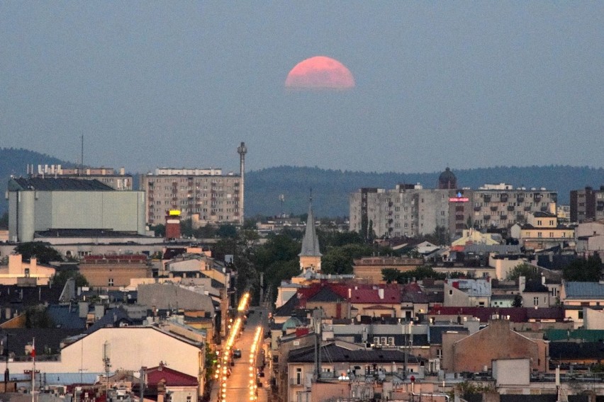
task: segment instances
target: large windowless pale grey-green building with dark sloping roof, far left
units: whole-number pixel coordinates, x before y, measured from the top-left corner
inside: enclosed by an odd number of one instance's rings
[[[11,178],[9,238],[33,241],[38,231],[101,229],[145,234],[145,197],[98,180]]]

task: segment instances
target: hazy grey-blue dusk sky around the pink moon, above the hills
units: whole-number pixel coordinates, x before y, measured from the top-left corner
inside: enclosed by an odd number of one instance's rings
[[[345,91],[288,91],[337,59]],[[604,166],[603,1],[1,1],[0,147],[91,166]],[[24,162],[26,163],[26,162]]]

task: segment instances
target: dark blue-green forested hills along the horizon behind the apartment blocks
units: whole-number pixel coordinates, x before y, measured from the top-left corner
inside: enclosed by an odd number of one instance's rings
[[[61,161],[27,149],[0,148],[0,180],[3,193],[11,175],[25,176],[29,164],[74,163]],[[152,161],[150,161],[152,165]],[[444,168],[444,166],[443,166]],[[508,183],[514,187],[547,188],[558,192],[561,204],[568,204],[571,190],[604,185],[604,168],[587,166],[528,166],[456,170],[460,187],[478,188],[485,183]],[[394,188],[398,183],[421,183],[435,188],[440,171],[432,173],[368,173],[336,171],[318,167],[278,166],[250,171],[245,176],[245,214],[277,215],[308,212],[308,198],[313,194],[317,217],[344,217],[349,214],[348,195],[362,187]],[[138,176],[134,174],[133,176]],[[138,182],[138,180],[136,180]],[[283,207],[279,195],[284,195]],[[5,197],[0,197],[0,213],[6,211]]]

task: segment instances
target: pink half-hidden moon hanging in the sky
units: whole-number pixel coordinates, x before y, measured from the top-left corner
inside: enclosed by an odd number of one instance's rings
[[[296,64],[285,80],[293,90],[345,90],[354,88],[354,76],[336,59],[315,56]]]

